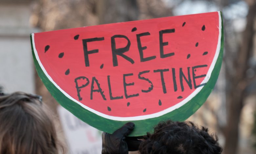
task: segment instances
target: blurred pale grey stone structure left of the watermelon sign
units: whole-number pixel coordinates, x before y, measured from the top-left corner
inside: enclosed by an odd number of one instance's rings
[[[34,93],[31,54],[30,0],[1,0],[0,5],[0,85],[4,91]]]

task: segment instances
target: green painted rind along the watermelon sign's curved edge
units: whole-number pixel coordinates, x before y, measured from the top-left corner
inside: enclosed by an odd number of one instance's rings
[[[195,113],[200,106],[203,105],[203,103],[206,101],[207,97],[210,95],[211,91],[213,90],[220,73],[222,57],[223,57],[223,48],[224,48],[223,34],[224,34],[224,30],[223,30],[223,23],[222,23],[220,53],[216,61],[215,67],[211,73],[210,79],[207,82],[207,84],[202,88],[202,90],[185,105],[181,106],[178,109],[173,110],[172,112],[169,112],[160,117],[155,117],[151,119],[129,121],[129,122],[135,123],[135,128],[129,136],[143,136],[146,134],[147,131],[152,131],[153,127],[157,125],[160,121],[165,121],[169,119],[173,121],[184,121],[188,117],[190,117],[193,113]],[[32,44],[32,37],[31,37],[31,44]],[[108,133],[113,133],[116,129],[120,128],[123,124],[128,122],[128,121],[115,121],[115,120],[103,118],[83,108],[82,106],[78,105],[74,101],[67,98],[58,88],[56,88],[53,85],[53,83],[44,74],[43,70],[41,69],[41,67],[39,66],[35,58],[33,46],[32,46],[32,54],[33,54],[33,59],[34,59],[34,63],[35,63],[35,67],[38,72],[38,75],[43,81],[46,88],[49,90],[49,92],[59,102],[61,106],[69,110],[80,120],[86,122],[87,124],[99,130],[102,130]]]

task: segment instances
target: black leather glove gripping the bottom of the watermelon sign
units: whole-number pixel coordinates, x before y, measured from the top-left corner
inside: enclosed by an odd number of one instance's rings
[[[103,132],[101,154],[128,154],[128,147],[129,149],[132,148],[133,151],[138,150],[141,141],[134,138],[129,138],[129,141],[127,141],[125,138],[132,132],[133,128],[134,123],[126,123],[113,134]]]

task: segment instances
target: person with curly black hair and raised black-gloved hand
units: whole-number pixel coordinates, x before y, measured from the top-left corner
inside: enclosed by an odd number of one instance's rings
[[[127,137],[134,128],[126,123],[113,134],[102,133],[102,154],[221,154],[218,137],[192,122],[160,122],[142,139]],[[131,150],[132,149],[132,150]],[[138,151],[135,151],[137,149]]]

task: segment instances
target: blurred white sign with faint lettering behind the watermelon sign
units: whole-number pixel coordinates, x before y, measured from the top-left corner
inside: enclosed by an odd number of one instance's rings
[[[70,154],[101,153],[101,131],[82,122],[62,106],[58,106],[58,113]]]

